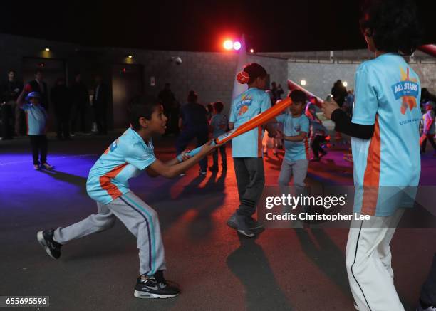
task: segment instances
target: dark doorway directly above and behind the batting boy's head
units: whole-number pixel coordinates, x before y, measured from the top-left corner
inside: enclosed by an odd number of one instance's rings
[[[113,65],[112,97],[113,126],[125,128],[128,122],[128,103],[137,95],[142,94],[141,65]]]

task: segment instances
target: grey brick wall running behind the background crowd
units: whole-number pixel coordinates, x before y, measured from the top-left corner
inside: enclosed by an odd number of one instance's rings
[[[49,53],[43,51],[47,46],[51,48]],[[135,57],[126,58],[128,54]],[[171,58],[175,56],[182,58],[181,65],[172,63]],[[222,100],[226,109],[232,100],[237,65],[236,53],[92,48],[5,34],[0,34],[0,57],[0,80],[6,79],[9,68],[14,68],[21,78],[24,57],[57,58],[66,61],[69,79],[73,78],[76,70],[81,70],[90,88],[96,72],[102,73],[103,78],[110,83],[113,64],[140,64],[145,92],[157,95],[169,82],[180,102],[185,102],[187,93],[195,90],[200,102],[205,104]],[[270,74],[270,81],[276,81],[284,88],[288,78],[296,83],[306,80],[306,88],[320,97],[330,93],[333,83],[338,79],[347,81],[348,88],[354,88],[354,73],[358,67],[358,64],[344,63],[296,63],[284,58],[259,55],[248,55],[247,60],[263,65]],[[436,93],[436,63],[412,64],[412,68],[420,75],[422,87]],[[155,86],[150,85],[151,77],[155,77]]]

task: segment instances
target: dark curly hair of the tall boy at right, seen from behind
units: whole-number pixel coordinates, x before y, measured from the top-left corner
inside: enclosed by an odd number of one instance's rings
[[[416,4],[412,0],[366,0],[360,30],[366,29],[378,51],[411,55],[421,37]]]

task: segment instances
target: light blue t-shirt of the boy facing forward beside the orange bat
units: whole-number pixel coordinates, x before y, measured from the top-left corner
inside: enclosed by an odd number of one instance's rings
[[[277,122],[283,124],[283,133],[286,136],[297,136],[301,132],[308,134],[310,122],[306,115],[299,117],[292,117],[290,113],[285,113],[276,117]],[[309,144],[308,137],[301,140],[301,142],[284,141],[285,144],[285,159],[289,162],[296,160],[309,159]]]

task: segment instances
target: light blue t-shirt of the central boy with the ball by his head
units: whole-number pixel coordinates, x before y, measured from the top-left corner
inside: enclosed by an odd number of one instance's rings
[[[268,110],[271,107],[269,95],[264,90],[249,88],[241,93],[232,102],[229,122],[234,122],[237,129],[252,117]],[[262,157],[262,137],[264,131],[261,127],[246,132],[232,139],[232,156],[234,158]]]

